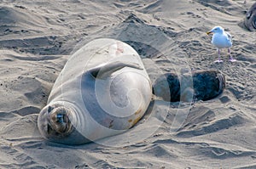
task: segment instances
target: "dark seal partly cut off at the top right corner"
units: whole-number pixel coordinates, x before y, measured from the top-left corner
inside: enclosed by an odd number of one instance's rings
[[[247,28],[248,31],[256,31],[256,3],[247,11],[246,17],[243,20],[241,27]]]

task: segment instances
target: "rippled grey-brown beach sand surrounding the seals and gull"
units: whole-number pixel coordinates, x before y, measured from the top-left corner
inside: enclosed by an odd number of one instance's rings
[[[238,26],[255,1],[243,2],[0,1],[0,168],[256,168],[256,38]],[[213,63],[215,25],[233,36],[236,63],[227,50]],[[193,105],[156,99],[136,127],[102,142],[49,143],[38,113],[68,57],[98,37],[134,47],[152,82],[220,70],[224,93]]]

